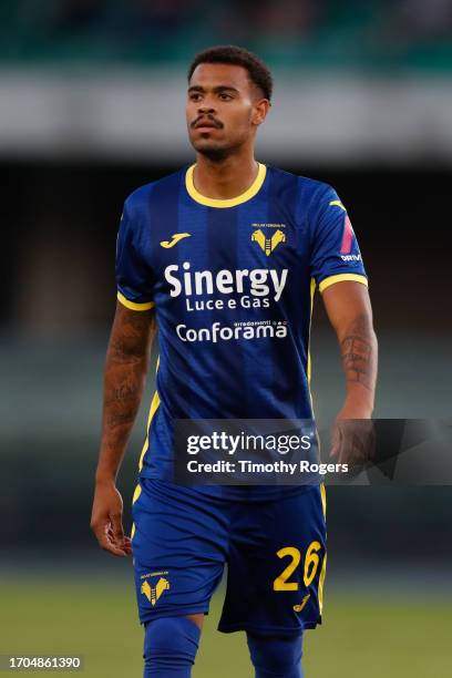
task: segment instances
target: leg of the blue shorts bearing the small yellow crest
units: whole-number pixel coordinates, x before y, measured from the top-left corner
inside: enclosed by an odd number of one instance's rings
[[[140,479],[132,552],[141,623],[208,614],[226,558],[227,517],[196,491]]]

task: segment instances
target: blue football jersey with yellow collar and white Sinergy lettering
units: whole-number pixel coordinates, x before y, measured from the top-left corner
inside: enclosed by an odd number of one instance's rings
[[[144,477],[172,477],[176,419],[312,419],[315,290],[367,285],[331,186],[259,164],[243,195],[213,199],[193,171],[132,193],[117,237],[117,297],[158,327]]]

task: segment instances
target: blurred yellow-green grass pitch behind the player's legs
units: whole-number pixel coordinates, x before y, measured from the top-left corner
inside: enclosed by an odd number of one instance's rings
[[[76,576],[76,579],[74,578]],[[113,581],[86,573],[20,577],[2,573],[0,654],[81,654],[92,678],[142,676],[142,628],[132,577]],[[88,581],[89,579],[89,581]],[[394,584],[394,583],[392,583]],[[450,596],[371,589],[347,595],[327,589],[326,618],[307,631],[307,678],[442,678],[451,661]],[[216,631],[223,600],[215,596],[194,678],[251,677],[244,634]],[[30,675],[14,671],[14,675]],[[33,672],[33,675],[37,675]],[[61,671],[60,675],[73,675]]]

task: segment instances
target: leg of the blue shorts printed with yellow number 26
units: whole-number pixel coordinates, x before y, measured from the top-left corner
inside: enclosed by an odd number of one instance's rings
[[[237,511],[219,630],[299,634],[321,622],[326,567],[323,491]]]

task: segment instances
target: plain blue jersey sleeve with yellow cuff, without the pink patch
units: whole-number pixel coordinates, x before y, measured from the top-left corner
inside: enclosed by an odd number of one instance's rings
[[[140,251],[137,229],[125,202],[116,242],[117,299],[132,310],[148,310],[154,307],[153,278]]]

